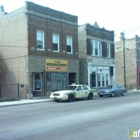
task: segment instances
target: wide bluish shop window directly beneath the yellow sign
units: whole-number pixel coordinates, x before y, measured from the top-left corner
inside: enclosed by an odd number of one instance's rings
[[[46,90],[61,90],[67,86],[67,73],[47,72],[46,73]]]

